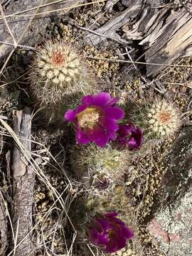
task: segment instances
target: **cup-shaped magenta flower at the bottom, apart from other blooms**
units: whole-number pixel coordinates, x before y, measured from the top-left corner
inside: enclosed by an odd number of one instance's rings
[[[132,230],[126,227],[117,213],[105,213],[96,217],[87,225],[87,236],[93,245],[107,253],[117,252],[126,246],[129,239],[134,238]]]

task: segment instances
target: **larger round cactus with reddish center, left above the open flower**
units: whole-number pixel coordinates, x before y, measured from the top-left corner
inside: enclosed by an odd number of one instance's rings
[[[34,56],[29,76],[31,92],[49,117],[53,112],[59,115],[60,108],[73,98],[97,91],[90,74],[78,50],[63,41],[48,41]]]

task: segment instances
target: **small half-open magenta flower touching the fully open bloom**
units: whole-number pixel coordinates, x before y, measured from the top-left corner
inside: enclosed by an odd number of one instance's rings
[[[133,124],[120,124],[115,142],[119,149],[140,149],[143,143],[143,137],[141,128],[134,127]]]

